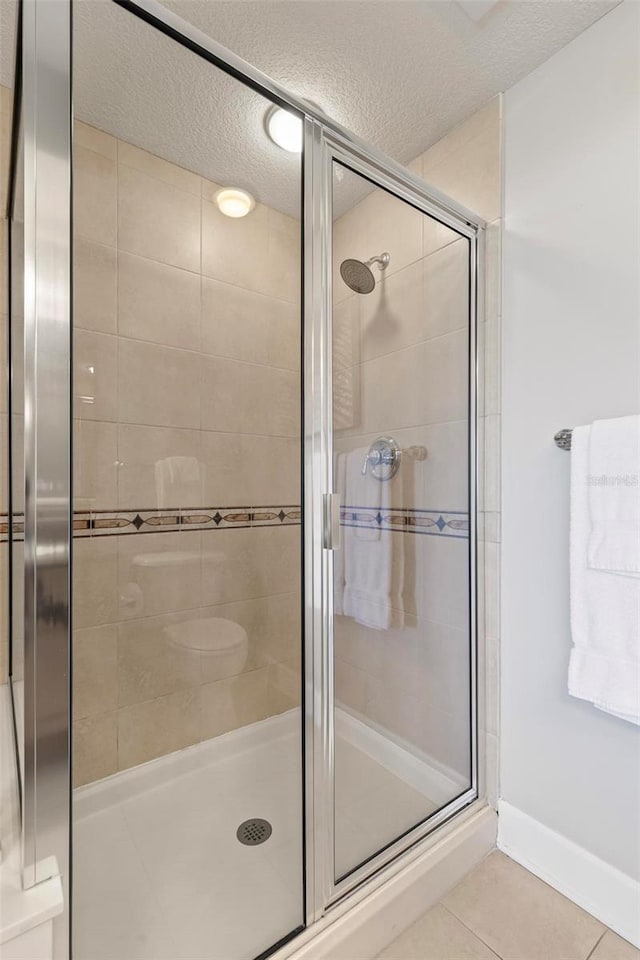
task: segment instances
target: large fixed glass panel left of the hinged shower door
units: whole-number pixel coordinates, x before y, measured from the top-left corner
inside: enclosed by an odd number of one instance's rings
[[[304,920],[301,157],[74,9],[74,956],[245,960]]]

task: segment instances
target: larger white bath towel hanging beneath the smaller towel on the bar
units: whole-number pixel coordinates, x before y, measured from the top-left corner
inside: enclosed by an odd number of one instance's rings
[[[569,693],[640,724],[640,579],[588,566],[591,427],[571,439]]]

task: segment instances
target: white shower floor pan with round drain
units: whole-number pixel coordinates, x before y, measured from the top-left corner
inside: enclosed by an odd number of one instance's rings
[[[442,788],[376,762],[357,725],[337,711],[339,870]],[[74,960],[251,960],[300,925],[299,726],[291,711],[74,791]],[[251,818],[264,843],[238,841]]]

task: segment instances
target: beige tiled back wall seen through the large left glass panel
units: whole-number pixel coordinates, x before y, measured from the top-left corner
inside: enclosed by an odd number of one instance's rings
[[[74,189],[80,784],[299,700],[300,225],[81,123]],[[231,675],[174,642],[206,618]]]

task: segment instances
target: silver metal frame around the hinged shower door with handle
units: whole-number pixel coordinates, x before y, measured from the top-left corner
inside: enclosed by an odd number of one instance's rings
[[[479,796],[477,717],[477,325],[484,263],[486,223],[355,138],[322,122],[307,118],[304,136],[305,182],[305,330],[307,331],[307,387],[309,400],[305,439],[307,446],[305,516],[307,518],[307,687],[312,685],[313,710],[308,716],[307,750],[314,758],[313,810],[307,806],[307,836],[312,831],[314,863],[307,865],[309,919],[319,919],[355,889],[378,874],[405,851],[425,840]],[[333,489],[333,390],[332,390],[332,232],[333,165],[340,163],[427,216],[443,223],[469,242],[469,623],[470,623],[470,725],[471,784],[441,810],[407,831],[395,842],[346,876],[336,879],[334,803],[334,689],[333,689],[333,550],[330,502]],[[318,371],[321,371],[318,377]],[[312,392],[309,394],[309,384]]]

